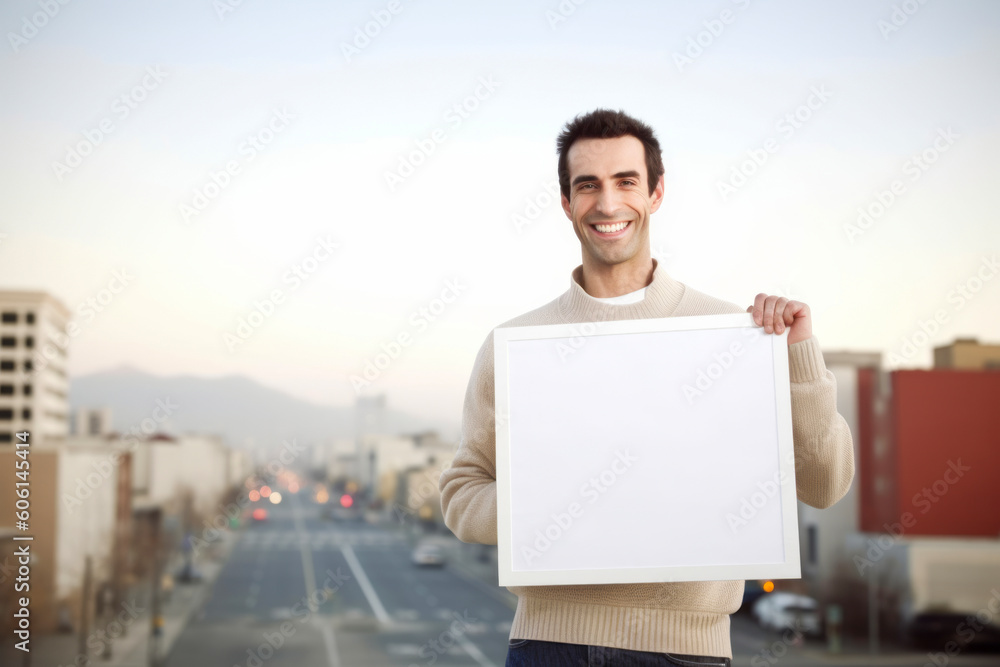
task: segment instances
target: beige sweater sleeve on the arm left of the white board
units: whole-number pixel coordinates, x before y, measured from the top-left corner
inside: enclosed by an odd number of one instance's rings
[[[439,487],[445,525],[458,539],[497,543],[492,333],[476,357],[465,392],[462,439],[451,466],[441,473]]]

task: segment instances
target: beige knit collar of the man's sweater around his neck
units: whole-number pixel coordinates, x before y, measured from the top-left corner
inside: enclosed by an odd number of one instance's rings
[[[684,295],[684,284],[671,278],[663,265],[653,259],[653,281],[646,296],[636,303],[616,305],[598,301],[580,286],[583,265],[573,269],[569,290],[559,297],[559,313],[567,322],[603,322],[670,317]]]

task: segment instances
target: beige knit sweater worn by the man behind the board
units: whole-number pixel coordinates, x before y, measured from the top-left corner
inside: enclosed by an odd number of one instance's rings
[[[654,263],[656,260],[653,260]],[[580,287],[582,267],[555,301],[501,326],[531,326],[743,313],[677,282],[660,265],[642,301],[612,305]],[[847,492],[854,447],[837,413],[836,385],[816,338],[788,348],[795,481],[799,500],[825,508]],[[441,475],[445,523],[464,542],[497,543],[493,335],[476,357],[465,395],[462,440]],[[729,614],[742,601],[742,581],[511,587],[518,596],[510,637],[637,651],[732,657]]]

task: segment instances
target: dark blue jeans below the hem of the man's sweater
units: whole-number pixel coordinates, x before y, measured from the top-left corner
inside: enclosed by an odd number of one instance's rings
[[[608,646],[562,644],[536,639],[512,639],[507,644],[505,667],[731,667],[729,658],[709,658],[680,653],[629,651]]]

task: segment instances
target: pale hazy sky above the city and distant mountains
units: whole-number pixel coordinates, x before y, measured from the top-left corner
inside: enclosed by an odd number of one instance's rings
[[[457,423],[490,330],[580,261],[547,188],[598,106],[659,134],[675,278],[802,299],[825,349],[904,367],[1000,341],[996,3],[51,0],[0,26],[0,288],[77,315],[74,375],[349,404],[403,335],[365,390]]]

